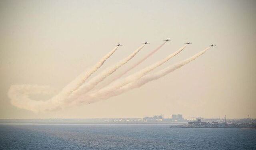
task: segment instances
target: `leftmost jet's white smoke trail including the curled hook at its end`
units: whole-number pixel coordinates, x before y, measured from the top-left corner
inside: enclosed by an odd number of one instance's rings
[[[57,95],[46,101],[35,101],[29,98],[31,94],[43,94],[50,92],[48,86],[37,86],[37,85],[14,85],[11,86],[8,92],[8,96],[11,99],[11,103],[18,108],[31,110],[34,112],[44,110],[54,110],[60,107],[61,103],[70,96],[72,92],[77,90],[94,72],[100,68],[104,62],[110,58],[112,54],[117,50],[116,46],[106,56],[104,56],[97,64],[94,65],[90,70],[80,74],[70,84],[65,86]]]

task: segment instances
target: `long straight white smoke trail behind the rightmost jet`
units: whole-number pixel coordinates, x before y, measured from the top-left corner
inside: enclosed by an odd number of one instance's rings
[[[210,49],[210,47],[206,48],[205,50],[202,50],[201,52],[198,52],[197,54],[195,54],[194,56],[192,56],[190,58],[187,58],[186,60],[178,62],[178,63],[176,63],[172,66],[169,66],[167,68],[164,68],[163,70],[161,70],[157,73],[146,75],[146,76],[140,78],[139,80],[135,80],[134,82],[130,82],[129,84],[126,84],[125,86],[122,86],[119,89],[113,88],[115,86],[115,85],[113,85],[112,87],[106,87],[102,90],[99,90],[98,92],[90,94],[90,96],[89,96],[90,100],[88,102],[92,103],[92,102],[96,102],[100,99],[107,99],[107,98],[110,98],[112,96],[122,94],[123,92],[131,90],[133,88],[138,88],[138,87],[140,87],[140,86],[142,86],[142,85],[144,85],[144,84],[146,84],[150,81],[157,80],[157,79],[169,74],[170,72],[184,66],[185,64],[188,64],[189,62],[195,60],[196,58],[198,58],[199,56],[204,54],[208,49]],[[112,89],[112,91],[110,91],[110,89]]]

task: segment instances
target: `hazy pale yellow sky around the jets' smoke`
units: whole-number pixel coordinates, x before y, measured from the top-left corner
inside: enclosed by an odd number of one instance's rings
[[[255,6],[254,0],[2,0],[0,118],[256,118]],[[8,98],[15,84],[48,85],[60,91],[114,44],[123,46],[96,74],[142,42],[150,42],[106,78],[108,82],[166,38],[172,41],[128,74],[165,58],[187,41],[192,44],[153,72],[210,44],[216,46],[159,80],[93,104],[36,113],[13,106]]]

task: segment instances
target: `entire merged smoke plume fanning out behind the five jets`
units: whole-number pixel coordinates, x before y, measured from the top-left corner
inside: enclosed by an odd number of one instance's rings
[[[162,44],[160,47],[162,47],[163,45],[164,44]],[[183,60],[181,62],[178,62],[174,65],[171,65],[167,68],[164,68],[163,70],[160,70],[154,74],[148,74],[150,71],[154,70],[158,66],[161,66],[162,64],[170,60],[172,57],[179,54],[182,50],[184,50],[184,48],[186,47],[185,45],[182,48],[180,48],[178,51],[170,54],[168,57],[166,57],[165,59],[159,62],[156,62],[124,79],[119,79],[113,82],[112,84],[104,88],[101,88],[100,90],[91,91],[98,83],[102,82],[106,77],[110,76],[118,68],[126,64],[129,60],[131,60],[144,46],[145,44],[140,46],[132,54],[130,54],[128,57],[118,62],[116,65],[104,70],[102,73],[98,74],[98,76],[92,78],[89,82],[84,84],[84,82],[94,72],[96,72],[96,70],[98,70],[98,68],[100,68],[100,66],[102,66],[104,62],[117,50],[117,47],[114,48],[89,71],[80,75],[70,84],[68,84],[65,88],[63,88],[61,92],[59,92],[58,94],[53,96],[51,99],[46,101],[31,100],[30,96],[32,94],[55,94],[56,90],[50,88],[49,86],[13,85],[10,87],[8,91],[8,96],[11,99],[11,104],[14,106],[17,106],[18,108],[31,110],[33,112],[42,112],[42,111],[58,110],[66,106],[78,105],[80,103],[97,102],[102,99],[107,99],[112,96],[122,94],[123,92],[131,90],[133,88],[138,88],[150,81],[157,80],[163,76],[166,76],[170,72],[178,68],[181,68],[185,64],[188,64],[189,62],[191,62],[192,60],[195,60],[210,48],[208,47],[205,50],[198,52],[194,56],[187,58],[186,60]],[[158,47],[158,49],[160,47]],[[156,51],[157,49],[151,52],[150,54],[148,54],[144,58],[145,59],[148,58],[149,56],[154,54],[154,52]],[[144,61],[145,59],[142,59],[142,61]],[[133,68],[138,64],[140,64],[141,62],[136,63],[136,65],[134,65]]]

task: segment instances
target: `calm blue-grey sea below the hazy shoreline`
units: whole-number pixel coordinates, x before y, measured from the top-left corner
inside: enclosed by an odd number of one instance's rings
[[[256,150],[256,130],[168,125],[0,125],[3,150]]]

